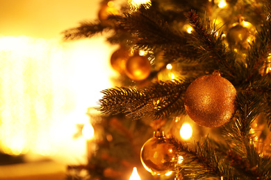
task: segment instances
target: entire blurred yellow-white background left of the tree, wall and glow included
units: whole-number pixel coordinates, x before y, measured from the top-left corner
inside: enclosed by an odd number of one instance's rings
[[[0,179],[61,179],[67,164],[87,163],[88,140],[74,134],[112,87],[117,47],[61,33],[97,19],[99,3],[0,0]]]

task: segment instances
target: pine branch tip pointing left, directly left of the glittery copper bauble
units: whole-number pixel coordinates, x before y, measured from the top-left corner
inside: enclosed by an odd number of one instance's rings
[[[176,80],[156,82],[139,90],[106,89],[102,91],[99,110],[106,114],[126,114],[135,120],[145,116],[153,119],[178,116],[184,113],[183,96],[189,84],[189,80]]]

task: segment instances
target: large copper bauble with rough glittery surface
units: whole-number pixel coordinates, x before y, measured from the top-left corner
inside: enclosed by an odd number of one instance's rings
[[[236,89],[220,75],[204,75],[193,81],[184,97],[188,116],[203,127],[220,127],[235,112]]]

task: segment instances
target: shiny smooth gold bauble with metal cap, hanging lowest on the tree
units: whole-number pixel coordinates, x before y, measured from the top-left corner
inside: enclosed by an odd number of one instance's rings
[[[174,170],[177,152],[174,146],[165,138],[163,132],[154,132],[142,146],[140,152],[141,163],[153,175],[167,174]]]

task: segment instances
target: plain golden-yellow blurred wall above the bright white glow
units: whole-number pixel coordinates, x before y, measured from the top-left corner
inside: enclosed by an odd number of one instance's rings
[[[0,0],[0,36],[56,38],[97,18],[100,0]]]

